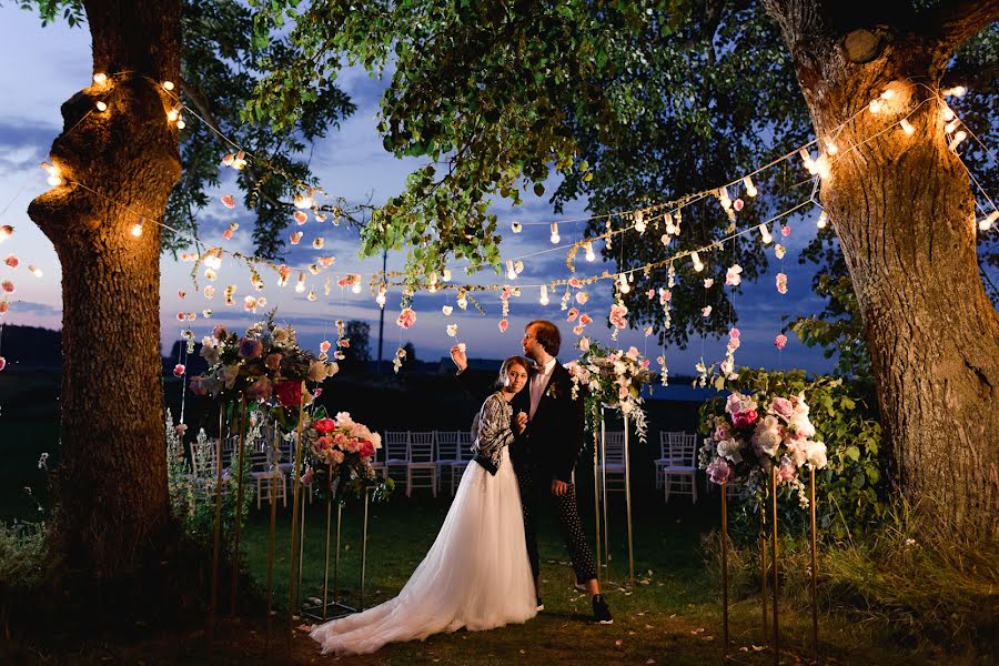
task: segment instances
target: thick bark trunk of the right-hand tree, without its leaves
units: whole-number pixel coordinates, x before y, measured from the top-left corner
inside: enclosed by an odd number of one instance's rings
[[[945,9],[958,20],[960,3],[951,4]],[[993,0],[971,4],[991,6],[983,24],[995,19]],[[820,145],[859,112],[835,137],[839,152],[829,155],[821,201],[862,313],[898,487],[924,534],[997,539],[999,315],[979,275],[975,200],[948,147],[938,90],[958,36],[945,34],[953,27],[946,16],[935,24],[921,17],[921,32],[889,32],[875,21],[844,31],[835,24],[864,17],[837,21],[817,2],[767,6]],[[962,39],[975,32],[965,28]],[[895,92],[886,108],[866,110],[886,88]],[[899,125],[906,117],[911,135]]]

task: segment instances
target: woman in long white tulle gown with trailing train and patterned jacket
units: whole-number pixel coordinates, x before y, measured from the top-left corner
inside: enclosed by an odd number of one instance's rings
[[[477,427],[473,425],[474,463],[465,468],[434,545],[397,597],[313,627],[309,635],[323,654],[373,653],[386,643],[423,640],[462,627],[492,629],[537,614],[521,496],[507,452],[527,424],[527,415],[514,418],[511,407],[526,383],[525,359],[503,362],[501,389],[485,400]]]

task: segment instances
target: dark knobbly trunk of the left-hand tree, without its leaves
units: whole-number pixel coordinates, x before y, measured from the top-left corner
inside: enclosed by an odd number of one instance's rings
[[[73,569],[127,574],[168,526],[160,356],[160,220],[180,178],[180,0],[87,1],[94,72],[62,105],[64,179],[31,219],[62,266],[62,463],[53,545]],[[94,107],[107,103],[105,111]],[[145,218],[143,233],[132,226]]]

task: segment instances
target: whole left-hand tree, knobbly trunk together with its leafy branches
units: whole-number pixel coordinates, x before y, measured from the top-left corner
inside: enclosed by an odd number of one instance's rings
[[[248,149],[236,183],[256,213],[262,256],[281,249],[293,196],[312,186],[305,142],[353,105],[315,87],[283,131],[241,115],[246,93],[285,53],[252,39],[234,1],[38,0],[44,21],[85,23],[93,72],[105,74],[62,107],[50,151],[62,182],[29,215],[62,269],[61,465],[53,553],[99,579],[129,574],[168,525],[160,356],[161,250],[188,246],[196,212],[219,185],[220,158]],[[173,85],[164,87],[164,82]],[[107,104],[99,109],[97,103]],[[186,129],[168,113],[185,107]],[[203,120],[195,122],[192,113]],[[327,210],[350,211],[331,200]],[[144,218],[142,233],[131,233]],[[165,222],[170,229],[161,226]],[[203,251],[204,248],[199,248]],[[158,561],[159,558],[153,558]]]

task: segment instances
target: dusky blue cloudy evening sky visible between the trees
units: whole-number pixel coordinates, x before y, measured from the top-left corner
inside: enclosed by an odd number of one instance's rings
[[[51,329],[61,325],[60,269],[51,243],[27,216],[27,208],[32,198],[43,192],[46,174],[38,168],[46,159],[52,139],[61,129],[59,108],[75,91],[90,83],[90,34],[85,29],[70,29],[63,23],[41,28],[40,21],[31,13],[4,4],[0,7],[0,62],[17,63],[8,67],[0,77],[0,99],[4,100],[3,114],[0,117],[0,224],[12,224],[16,234],[0,246],[0,254],[7,256],[14,253],[21,260],[21,266],[11,272],[0,264],[0,278],[12,279],[17,283],[17,292],[12,294],[11,310],[0,323],[30,324]],[[375,133],[374,114],[377,111],[382,84],[372,81],[360,71],[347,71],[341,79],[341,87],[352,95],[359,109],[347,119],[340,131],[331,134],[312,147],[312,164],[323,188],[349,200],[362,201],[371,198],[374,203],[385,201],[401,191],[406,174],[420,165],[416,160],[397,160],[384,152],[381,139]],[[189,119],[189,122],[198,122]],[[221,153],[220,153],[221,158]],[[740,174],[730,174],[736,178]],[[202,236],[210,244],[220,243],[226,250],[252,253],[249,243],[251,218],[246,211],[236,208],[226,210],[219,195],[236,194],[234,188],[223,181],[213,203],[202,216]],[[549,189],[551,191],[551,189]],[[504,258],[523,256],[553,248],[548,240],[547,223],[556,220],[585,218],[585,202],[577,202],[567,208],[562,215],[555,215],[553,208],[545,200],[526,198],[524,205],[512,209],[508,204],[498,203],[494,211],[498,214],[504,230],[502,245]],[[784,239],[787,256],[781,262],[771,260],[771,269],[758,283],[744,283],[744,293],[736,300],[740,314],[738,327],[741,331],[743,346],[736,354],[739,364],[767,366],[774,369],[805,367],[823,372],[829,369],[830,362],[820,353],[805,349],[797,339],[789,336],[788,345],[783,352],[773,346],[774,336],[779,332],[783,315],[811,314],[821,307],[820,301],[810,291],[810,266],[799,266],[798,253],[815,233],[813,219],[816,211],[808,211],[801,218],[791,218],[794,230],[788,239]],[[512,221],[525,223],[524,233],[509,233]],[[241,230],[232,241],[221,240],[222,231],[229,223],[241,223]],[[312,225],[313,222],[310,222]],[[360,319],[372,324],[373,336],[377,333],[379,309],[367,292],[367,276],[381,269],[381,258],[360,260],[356,258],[357,239],[355,230],[343,226],[333,228],[329,223],[322,230],[310,225],[300,228],[305,232],[302,244],[285,258],[290,265],[304,265],[313,261],[316,254],[310,246],[311,240],[321,234],[326,248],[323,254],[336,256],[334,269],[337,274],[356,272],[364,275],[364,290],[361,294],[350,291],[341,292],[334,284],[329,296],[323,295],[323,282],[326,274],[310,276],[309,285],[317,294],[315,302],[309,302],[305,294],[296,294],[291,284],[279,289],[273,279],[268,287],[255,295],[266,296],[268,309],[279,307],[279,319],[293,324],[300,333],[301,342],[315,347],[326,337],[335,337],[334,321],[337,319]],[[563,244],[582,239],[582,222],[559,224]],[[290,230],[291,231],[291,230]],[[524,260],[526,268],[519,282],[538,284],[555,278],[565,278],[565,252],[549,251]],[[24,270],[34,264],[43,271],[40,279],[33,278]],[[390,254],[389,266],[401,268],[402,256]],[[455,264],[460,265],[460,264]],[[579,258],[577,266],[583,270],[585,262]],[[260,314],[244,313],[242,299],[254,294],[250,290],[249,273],[245,269],[225,262],[215,282],[218,295],[206,301],[195,290],[190,279],[188,263],[164,256],[161,261],[161,321],[163,349],[168,351],[172,342],[179,337],[182,325],[176,321],[180,311],[199,313],[193,322],[193,330],[200,337],[206,334],[216,323],[242,327],[260,319]],[[589,264],[596,272],[608,266]],[[724,283],[725,266],[714,266],[715,279]],[[774,289],[777,272],[784,270],[789,276],[789,293],[780,296]],[[465,282],[463,271],[454,271],[456,282]],[[501,283],[504,278],[491,272],[477,273],[468,281],[480,283]],[[335,278],[334,278],[335,281]],[[291,283],[294,283],[294,278]],[[201,285],[205,284],[201,281]],[[222,303],[222,291],[226,284],[238,284],[235,307],[226,309]],[[717,289],[717,287],[716,287]],[[181,300],[179,291],[185,291],[186,297]],[[594,323],[587,333],[608,341],[609,330],[603,325],[606,321],[606,309],[610,302],[610,286],[607,281],[591,290],[593,300],[586,307]],[[398,313],[398,295],[390,294],[385,311],[385,350],[391,357],[395,347],[412,341],[420,359],[436,359],[446,354],[453,339],[445,334],[448,323],[458,324],[457,340],[465,342],[473,356],[501,357],[518,351],[521,331],[524,324],[536,317],[552,319],[561,322],[563,333],[572,337],[572,324],[564,323],[564,313],[559,311],[561,294],[552,294],[552,303],[547,307],[538,304],[536,287],[524,289],[519,299],[511,300],[509,330],[501,333],[497,327],[500,301],[496,295],[484,295],[482,303],[487,315],[478,314],[472,306],[466,312],[457,307],[452,316],[441,312],[444,304],[454,305],[454,295],[426,294],[417,295],[414,307],[417,323],[408,331],[401,331],[395,325]],[[204,320],[201,311],[210,307],[211,320]],[[649,339],[652,340],[652,339]],[[372,340],[372,349],[376,350],[377,341]],[[626,331],[619,335],[619,345],[636,345],[653,359],[662,353],[654,344],[646,344],[646,339],[637,331]],[[2,345],[2,340],[0,340]],[[0,346],[2,351],[2,346]],[[718,340],[692,339],[687,350],[667,349],[666,359],[672,374],[696,374],[694,364],[699,357],[708,363],[720,361],[725,355],[725,342]],[[563,360],[569,354],[563,352]],[[14,360],[11,360],[14,361]]]

